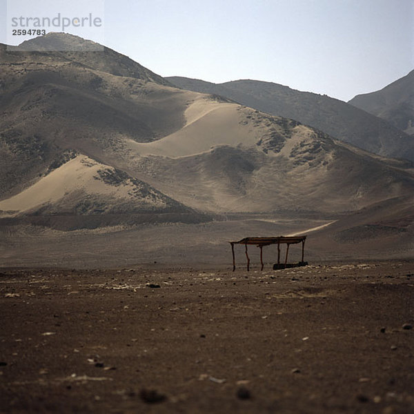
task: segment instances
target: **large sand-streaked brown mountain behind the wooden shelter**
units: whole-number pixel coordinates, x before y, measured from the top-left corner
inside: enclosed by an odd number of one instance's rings
[[[32,41],[37,47],[42,39],[85,42],[62,34]],[[408,251],[413,228],[402,207],[414,194],[408,161],[373,155],[232,99],[172,87],[107,48],[3,45],[0,58],[4,252],[8,241],[16,246],[14,237],[30,239],[39,227],[122,225],[129,243],[148,254],[179,245],[180,257],[193,248],[195,257],[211,259],[206,252],[242,232],[286,234],[331,221],[341,223],[330,233],[339,244],[349,241],[339,233],[355,226],[371,226],[374,239],[383,239],[388,226],[387,246]],[[378,205],[389,209],[386,221],[369,214],[346,220]],[[157,241],[159,235],[166,239]],[[106,244],[102,251],[110,250]]]

